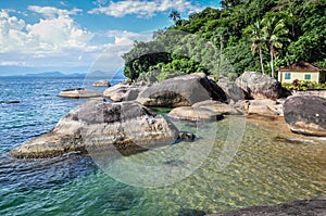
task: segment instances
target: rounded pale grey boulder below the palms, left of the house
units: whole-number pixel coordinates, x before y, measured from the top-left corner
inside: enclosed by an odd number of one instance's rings
[[[244,72],[236,79],[251,99],[278,99],[281,97],[281,85],[276,79],[256,72]]]

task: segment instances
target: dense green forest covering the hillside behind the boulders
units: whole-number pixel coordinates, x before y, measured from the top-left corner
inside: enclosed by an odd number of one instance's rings
[[[255,71],[276,77],[277,67],[306,61],[326,67],[325,0],[223,0],[135,41],[123,55],[130,80],[161,81],[203,72],[238,77]]]

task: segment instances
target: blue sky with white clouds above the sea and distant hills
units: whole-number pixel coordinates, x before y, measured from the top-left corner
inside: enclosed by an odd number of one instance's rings
[[[1,0],[0,76],[116,72],[135,40],[218,0]]]

